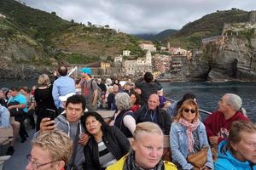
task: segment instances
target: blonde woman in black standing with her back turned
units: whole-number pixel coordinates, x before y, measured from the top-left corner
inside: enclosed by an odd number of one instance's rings
[[[42,74],[38,77],[38,88],[35,89],[34,97],[36,100],[36,115],[37,125],[36,131],[40,130],[40,122],[45,116],[47,109],[54,110],[57,113],[57,108],[52,96],[52,85],[49,82],[49,77]],[[57,115],[57,114],[56,114]]]

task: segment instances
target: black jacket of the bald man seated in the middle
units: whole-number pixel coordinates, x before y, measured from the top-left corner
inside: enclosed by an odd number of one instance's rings
[[[139,122],[152,122],[152,120],[148,119],[146,114],[148,114],[148,105],[143,105],[141,108],[139,108],[136,113],[136,124]],[[162,129],[163,133],[166,135],[169,135],[170,129],[171,129],[171,116],[168,116],[166,114],[166,111],[161,109],[159,106],[155,109],[156,111],[156,118],[158,120],[158,125]]]

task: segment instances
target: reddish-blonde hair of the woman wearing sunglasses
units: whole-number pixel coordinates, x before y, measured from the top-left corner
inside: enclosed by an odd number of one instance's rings
[[[197,103],[193,100],[193,99],[186,99],[183,104],[179,107],[178,111],[177,111],[177,116],[174,117],[174,122],[178,122],[179,119],[181,117],[183,117],[183,109],[184,107],[186,107],[187,105],[193,106],[195,107],[195,119],[197,120],[199,119],[199,111],[198,111],[198,105]],[[194,121],[193,120],[193,121]]]

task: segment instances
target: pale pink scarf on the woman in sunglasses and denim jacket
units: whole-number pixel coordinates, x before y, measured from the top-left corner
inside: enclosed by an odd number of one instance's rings
[[[179,121],[184,127],[186,127],[186,133],[189,139],[189,153],[194,153],[193,146],[195,144],[194,138],[193,138],[193,131],[198,127],[199,125],[199,119],[196,121],[188,122],[183,117],[179,119]]]

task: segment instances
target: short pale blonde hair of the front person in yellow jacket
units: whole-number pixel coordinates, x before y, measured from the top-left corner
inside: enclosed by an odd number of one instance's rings
[[[154,133],[164,136],[164,133],[160,129],[160,127],[154,122],[140,122],[137,123],[135,131],[133,133],[134,139],[138,139],[141,133]]]

